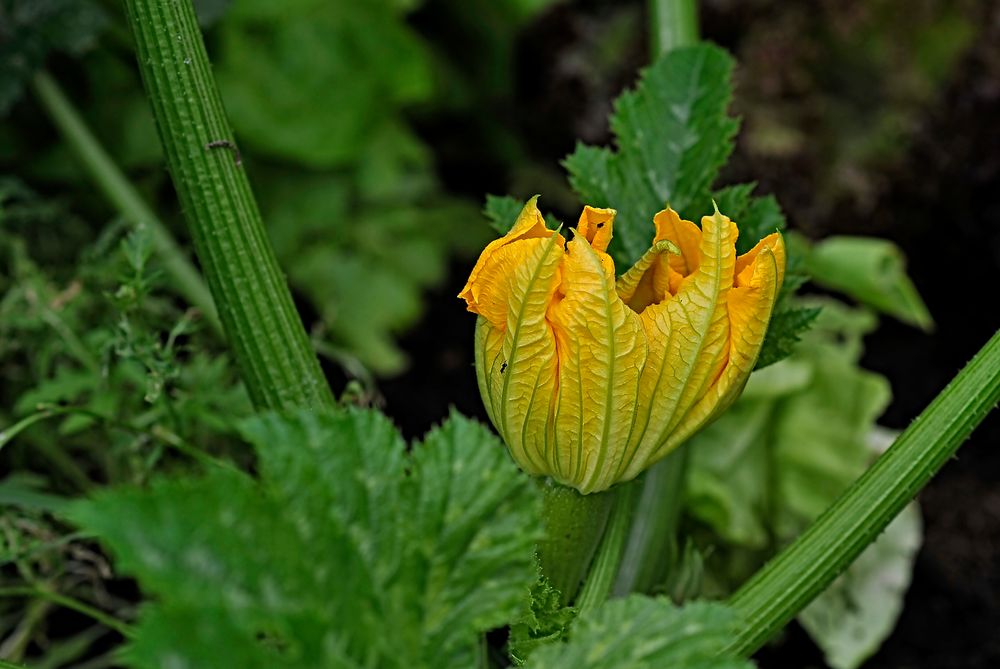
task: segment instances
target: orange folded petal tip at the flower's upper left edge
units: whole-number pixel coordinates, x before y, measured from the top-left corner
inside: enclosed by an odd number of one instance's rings
[[[545,227],[537,201],[537,195],[528,200],[510,232],[487,245],[458,294],[469,311],[484,316],[494,327],[504,327],[510,281],[516,269],[553,236],[559,238],[562,247],[562,236]]]

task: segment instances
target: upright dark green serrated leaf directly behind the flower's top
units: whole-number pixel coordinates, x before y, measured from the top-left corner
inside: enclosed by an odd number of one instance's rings
[[[653,215],[668,202],[688,216],[709,213],[689,209],[707,201],[732,150],[732,67],[725,51],[708,44],[668,52],[615,101],[617,150],[578,145],[566,158],[580,198],[618,211],[611,246],[618,266],[631,266],[649,248]]]

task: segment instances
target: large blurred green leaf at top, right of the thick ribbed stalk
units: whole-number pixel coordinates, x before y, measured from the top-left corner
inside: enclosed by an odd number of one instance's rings
[[[392,3],[276,7],[235,0],[219,25],[219,88],[254,148],[314,168],[343,165],[401,106],[430,96],[428,49]]]

